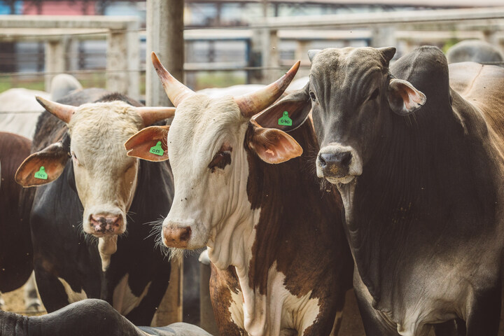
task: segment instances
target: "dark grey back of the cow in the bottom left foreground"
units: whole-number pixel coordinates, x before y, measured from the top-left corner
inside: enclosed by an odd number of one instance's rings
[[[87,299],[43,316],[0,311],[0,335],[9,336],[211,336],[195,325],[137,327],[103,300]]]

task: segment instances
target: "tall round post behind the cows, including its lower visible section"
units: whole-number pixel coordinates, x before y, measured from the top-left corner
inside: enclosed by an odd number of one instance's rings
[[[166,69],[183,82],[183,0],[147,1],[146,104],[171,106],[151,62],[155,51]],[[153,325],[182,321],[183,262],[172,262],[167,293],[160,304]]]

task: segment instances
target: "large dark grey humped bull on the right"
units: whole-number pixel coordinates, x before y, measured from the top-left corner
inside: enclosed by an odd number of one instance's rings
[[[366,334],[497,335],[504,69],[448,66],[429,46],[389,66],[394,54],[311,50],[309,85],[271,109],[312,108]]]

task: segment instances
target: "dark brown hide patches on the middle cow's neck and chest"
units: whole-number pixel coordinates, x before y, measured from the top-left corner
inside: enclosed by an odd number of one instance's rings
[[[251,137],[252,125],[244,144]],[[342,228],[342,202],[335,188],[321,190],[313,172],[318,151],[310,120],[290,133],[302,146],[299,158],[269,165],[246,147],[249,176],[248,200],[252,209],[261,208],[256,225],[249,283],[256,293],[267,295],[268,269],[276,262],[286,276],[284,285],[293,295],[319,300],[316,323],[304,335],[329,335],[344,295],[351,288],[353,262]],[[240,335],[231,322],[231,293],[239,288],[234,267],[212,267],[211,298],[221,335]]]

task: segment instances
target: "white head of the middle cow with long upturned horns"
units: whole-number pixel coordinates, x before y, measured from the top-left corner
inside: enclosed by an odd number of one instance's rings
[[[216,99],[197,94],[179,83],[155,54],[153,64],[176,106],[176,115],[169,132],[149,127],[130,139],[125,147],[128,155],[152,160],[145,149],[166,139],[166,159],[169,157],[172,167],[175,195],[172,209],[163,222],[163,242],[172,248],[201,248],[211,244],[209,241],[214,241],[223,230],[232,230],[223,228],[225,223],[242,223],[250,217],[248,152],[271,164],[302,154],[299,144],[279,130],[280,127],[263,128],[251,120],[281,96],[299,62],[262,90]],[[295,118],[293,122],[297,123]],[[163,132],[165,135],[160,135]]]

